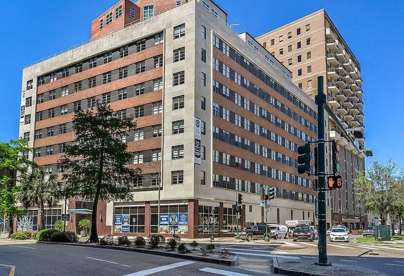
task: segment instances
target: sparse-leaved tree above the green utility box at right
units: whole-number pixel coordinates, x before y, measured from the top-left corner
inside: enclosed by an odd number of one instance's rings
[[[392,186],[399,180],[398,166],[391,159],[386,163],[371,162],[367,173],[357,172],[354,181],[359,199],[365,202],[365,208],[378,213],[381,224],[386,224],[388,213],[392,210],[395,194]]]

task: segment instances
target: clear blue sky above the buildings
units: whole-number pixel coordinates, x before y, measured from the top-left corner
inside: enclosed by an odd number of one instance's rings
[[[18,137],[23,67],[89,39],[90,22],[116,1],[0,1],[0,141]],[[368,162],[404,165],[404,1],[215,1],[254,36],[325,8],[361,63]]]

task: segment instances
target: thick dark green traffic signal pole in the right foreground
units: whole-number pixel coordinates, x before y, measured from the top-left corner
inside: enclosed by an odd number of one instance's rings
[[[323,76],[317,77],[317,129],[318,129],[318,263],[319,266],[329,266],[327,259],[327,212],[326,212],[326,176],[325,176],[325,130],[324,103],[326,97],[323,91]]]

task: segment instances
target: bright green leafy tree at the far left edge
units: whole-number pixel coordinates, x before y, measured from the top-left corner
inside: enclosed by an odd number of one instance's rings
[[[14,217],[24,214],[24,210],[16,205],[19,187],[15,182],[18,180],[17,176],[27,172],[29,166],[35,166],[23,154],[32,151],[33,148],[28,145],[27,140],[22,138],[0,143],[0,216],[8,216],[9,237],[14,233],[12,223]],[[13,172],[13,176],[5,174],[6,170]]]

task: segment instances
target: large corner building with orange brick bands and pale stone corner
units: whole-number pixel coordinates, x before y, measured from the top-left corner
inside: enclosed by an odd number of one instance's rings
[[[262,185],[276,187],[269,222],[315,223],[312,178],[297,175],[296,159],[297,145],[317,136],[316,106],[253,37],[229,27],[210,0],[122,0],[92,22],[90,41],[23,70],[20,136],[46,173],[58,173],[74,141],[74,110],[100,101],[137,122],[126,140],[130,166],[142,169],[135,201],[101,202],[101,235],[156,233],[159,220],[162,233],[234,235],[236,193],[240,222],[264,222]],[[67,211],[78,230],[91,203],[70,198]],[[63,203],[47,210],[47,227],[62,212]]]

